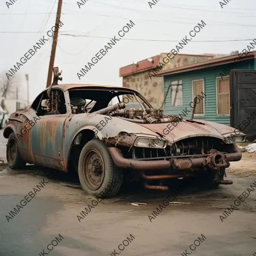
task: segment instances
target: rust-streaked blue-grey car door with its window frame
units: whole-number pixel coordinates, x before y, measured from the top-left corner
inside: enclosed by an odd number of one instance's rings
[[[48,99],[47,91],[41,98],[37,109],[39,120],[36,121],[30,132],[30,147],[32,157],[35,164],[56,168],[56,166],[64,166],[63,159],[63,132],[64,123],[68,117],[67,108],[65,106],[64,92],[58,91],[62,97],[64,110],[60,114],[47,114],[42,104]],[[64,167],[63,167],[64,170]]]

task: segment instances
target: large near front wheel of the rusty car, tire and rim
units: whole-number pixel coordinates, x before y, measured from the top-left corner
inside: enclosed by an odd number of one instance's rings
[[[78,174],[82,189],[97,198],[116,195],[123,180],[123,173],[114,165],[108,147],[96,139],[84,145],[79,157]]]

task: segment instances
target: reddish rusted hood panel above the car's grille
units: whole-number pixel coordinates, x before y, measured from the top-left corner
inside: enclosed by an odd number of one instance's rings
[[[174,125],[176,124],[176,126]],[[223,134],[234,132],[234,128],[218,124],[215,122],[201,121],[193,119],[185,120],[177,123],[161,123],[161,124],[140,124],[157,134],[165,136],[166,140],[175,143],[178,140],[183,140],[190,137],[215,137],[223,140]]]

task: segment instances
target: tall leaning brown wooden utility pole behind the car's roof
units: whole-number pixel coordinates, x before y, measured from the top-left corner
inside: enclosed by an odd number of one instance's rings
[[[61,6],[62,6],[62,0],[58,0],[58,10],[57,10],[57,15],[56,15],[56,23],[60,23],[61,19]],[[53,70],[53,65],[54,65],[54,60],[55,60],[55,52],[56,52],[56,47],[57,47],[57,39],[58,39],[58,29],[56,32],[53,34],[53,40],[52,40],[52,51],[51,51],[51,57],[50,57],[50,62],[49,62],[49,70],[48,70],[48,77],[47,77],[47,84],[46,87],[49,87],[52,83],[52,70]]]

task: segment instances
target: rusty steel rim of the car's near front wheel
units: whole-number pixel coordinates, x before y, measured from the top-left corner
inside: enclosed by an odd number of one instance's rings
[[[87,150],[83,161],[83,176],[90,190],[97,190],[105,177],[105,164],[96,148]]]

